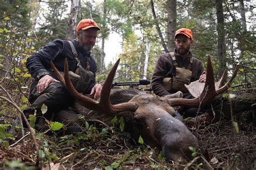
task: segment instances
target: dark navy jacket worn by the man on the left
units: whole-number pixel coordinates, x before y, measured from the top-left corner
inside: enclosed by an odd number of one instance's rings
[[[77,40],[73,40],[72,42],[78,53],[78,59],[80,60],[81,65],[86,68],[86,60],[87,58],[91,58],[91,52],[84,51],[83,48],[79,47]],[[42,73],[49,73],[53,77],[53,79],[58,80],[57,76],[51,69],[50,61],[54,63],[55,67],[60,72],[63,72],[65,58],[68,60],[69,70],[75,72],[75,70],[77,69],[77,61],[72,54],[70,44],[68,41],[60,39],[52,41],[49,45],[46,45],[39,52],[30,56],[26,61],[26,68],[28,68],[29,73],[35,79],[35,81],[31,85],[31,90],[36,87],[38,82],[37,79]],[[97,71],[97,65],[93,58],[90,59],[90,70],[94,74]],[[94,84],[95,76],[90,82],[90,86],[86,90],[87,93],[90,93]]]

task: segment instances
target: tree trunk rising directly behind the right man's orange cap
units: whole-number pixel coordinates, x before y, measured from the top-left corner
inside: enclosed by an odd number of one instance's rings
[[[177,2],[176,0],[167,0],[167,48],[172,52],[175,48],[174,36],[176,31],[177,19]]]

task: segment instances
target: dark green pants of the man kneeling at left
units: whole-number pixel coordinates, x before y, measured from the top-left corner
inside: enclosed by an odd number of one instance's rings
[[[37,121],[35,129],[38,131],[48,129],[45,119],[63,123],[67,127],[73,127],[73,124],[78,121],[77,113],[70,108],[74,99],[60,82],[52,82],[41,94],[37,93],[36,87],[31,89],[29,101],[31,105],[26,107],[23,112],[26,117],[29,117],[29,115],[33,115],[36,111]],[[43,104],[47,106],[45,114],[42,114],[41,111]]]

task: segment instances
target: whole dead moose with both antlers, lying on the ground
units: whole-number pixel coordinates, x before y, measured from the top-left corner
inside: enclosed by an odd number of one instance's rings
[[[207,79],[202,93],[197,98],[185,99],[181,98],[181,92],[176,94],[178,96],[174,96],[178,98],[172,98],[172,95],[154,97],[134,90],[117,90],[111,93],[112,81],[118,63],[119,59],[106,78],[99,102],[79,94],[72,86],[69,79],[67,61],[65,61],[64,77],[52,63],[51,65],[59,80],[69,90],[71,95],[83,107],[97,112],[97,114],[96,112],[91,114],[94,118],[96,116],[106,123],[113,116],[122,115],[125,119],[126,131],[130,132],[136,141],[138,141],[137,139],[141,135],[146,144],[152,148],[158,148],[159,151],[163,151],[163,155],[167,160],[176,162],[192,160],[192,152],[189,147],[199,148],[198,140],[184,123],[175,118],[176,115],[173,107],[198,107],[199,105],[204,106],[210,103],[215,96],[223,93],[231,86],[237,73],[237,68],[225,86],[215,89],[212,63],[210,57],[208,57]]]

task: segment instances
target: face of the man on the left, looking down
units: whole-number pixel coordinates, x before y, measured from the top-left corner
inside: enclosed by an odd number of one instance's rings
[[[97,35],[98,30],[95,29],[87,29],[81,33],[78,33],[77,39],[79,46],[84,48],[85,51],[91,51],[92,47],[95,45]]]

